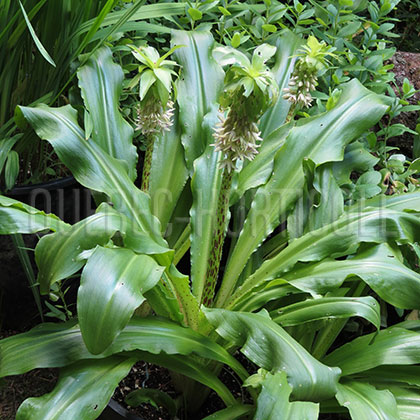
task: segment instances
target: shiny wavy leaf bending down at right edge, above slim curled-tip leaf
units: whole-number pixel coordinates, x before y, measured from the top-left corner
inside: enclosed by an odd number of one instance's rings
[[[282,278],[305,292],[325,294],[340,287],[349,276],[360,277],[382,299],[398,308],[420,309],[420,274],[399,261],[397,253],[386,244],[364,247],[346,260],[298,264]]]

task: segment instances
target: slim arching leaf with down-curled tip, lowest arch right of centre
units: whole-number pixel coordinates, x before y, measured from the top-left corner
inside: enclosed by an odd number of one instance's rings
[[[283,327],[299,325],[329,318],[359,316],[371,322],[378,330],[381,314],[378,302],[373,297],[324,297],[294,303],[272,312],[273,321]]]

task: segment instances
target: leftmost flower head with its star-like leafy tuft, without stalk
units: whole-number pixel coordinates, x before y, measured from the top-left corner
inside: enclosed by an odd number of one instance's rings
[[[153,47],[131,46],[134,57],[141,63],[137,78],[140,83],[140,103],[137,107],[136,128],[146,137],[163,130],[169,131],[172,126],[172,77],[176,76],[172,68],[177,63],[166,58],[179,47],[172,48],[160,57]]]

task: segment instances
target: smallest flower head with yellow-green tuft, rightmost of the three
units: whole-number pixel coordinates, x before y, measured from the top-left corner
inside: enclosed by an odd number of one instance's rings
[[[332,51],[332,47],[326,45],[324,41],[319,42],[311,35],[302,51],[297,55],[298,60],[289,85],[284,89],[283,98],[295,106],[311,106],[311,92],[318,85],[318,73],[329,63],[326,57],[334,56]]]

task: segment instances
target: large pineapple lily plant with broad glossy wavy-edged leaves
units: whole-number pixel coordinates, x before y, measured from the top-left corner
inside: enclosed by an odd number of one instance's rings
[[[77,319],[0,341],[0,376],[62,368],[18,420],[95,419],[138,360],[174,372],[184,413],[212,389],[226,404],[218,419],[418,415],[419,322],[381,330],[379,300],[420,307],[420,276],[401,257],[420,239],[420,194],[344,205],[336,177],[360,164],[344,151],[387,105],[353,80],[325,113],[285,124],[290,102],[277,89],[302,42],[287,32],[250,58],[215,48],[206,31],[173,32],[183,46],[174,120],[153,139],[147,192],[133,182],[123,73],[108,48],[78,71],[88,132],[70,105],[19,107],[75,178],[107,198],[70,226],[0,197],[0,233],[52,231],[35,250],[42,293],[82,269]],[[148,316],[136,312],[144,302]],[[372,332],[331,352],[350,317]],[[252,403],[220,381],[223,366]]]

